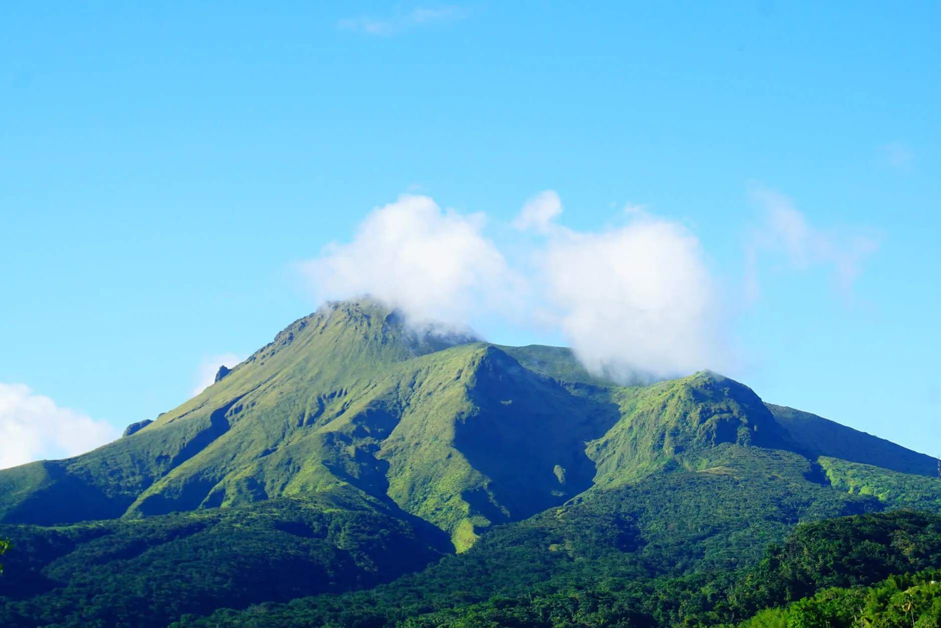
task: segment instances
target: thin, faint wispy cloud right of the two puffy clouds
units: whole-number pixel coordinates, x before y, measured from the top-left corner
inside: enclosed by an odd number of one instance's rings
[[[749,298],[758,298],[759,258],[762,255],[783,256],[789,266],[798,270],[832,266],[837,290],[844,296],[850,294],[863,261],[879,249],[874,235],[859,229],[815,228],[807,223],[787,196],[763,187],[754,187],[751,197],[761,208],[764,223],[751,234],[746,245]]]

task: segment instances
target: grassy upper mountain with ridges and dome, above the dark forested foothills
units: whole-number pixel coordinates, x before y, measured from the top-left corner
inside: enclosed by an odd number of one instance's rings
[[[431,523],[460,550],[495,523],[694,470],[728,447],[853,459],[846,443],[865,443],[853,461],[933,473],[927,456],[807,417],[714,373],[619,387],[565,348],[442,337],[375,301],[345,301],[114,443],[0,472],[0,522],[333,494]],[[833,442],[809,437],[814,426]]]

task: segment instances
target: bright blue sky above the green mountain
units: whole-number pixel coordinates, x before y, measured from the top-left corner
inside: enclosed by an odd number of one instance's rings
[[[552,259],[593,282],[661,225],[667,301],[705,273],[721,311],[664,368],[941,453],[941,5],[709,5],[0,4],[0,466],[183,402],[402,194],[509,266],[581,242]],[[580,337],[492,310],[464,322]]]

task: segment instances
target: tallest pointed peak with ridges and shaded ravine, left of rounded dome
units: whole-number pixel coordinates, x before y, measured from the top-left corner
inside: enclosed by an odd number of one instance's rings
[[[491,523],[591,486],[583,443],[618,418],[606,396],[497,346],[420,336],[375,303],[342,303],[116,443],[0,473],[0,522],[152,516],[351,486],[465,547]]]

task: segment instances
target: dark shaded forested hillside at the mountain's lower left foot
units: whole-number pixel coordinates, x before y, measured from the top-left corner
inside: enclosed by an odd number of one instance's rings
[[[183,613],[369,588],[423,569],[447,536],[324,491],[137,520],[0,525],[0,625],[165,626]]]

